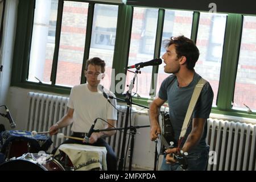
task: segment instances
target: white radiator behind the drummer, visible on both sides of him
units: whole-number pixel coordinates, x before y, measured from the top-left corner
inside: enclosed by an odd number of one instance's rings
[[[29,99],[29,113],[28,113],[28,124],[27,131],[48,131],[54,123],[59,121],[65,113],[67,113],[67,103],[69,98],[63,96],[54,96],[51,94],[43,93],[28,93]],[[118,111],[118,121],[117,127],[125,126],[126,117],[126,106],[117,105]],[[132,108],[132,112],[134,113]],[[124,113],[122,113],[124,112]],[[131,114],[131,125],[134,125],[135,114]],[[129,122],[130,123],[130,122]],[[128,125],[130,126],[130,125]],[[64,127],[60,130],[60,133],[64,135],[71,135],[71,125]],[[121,155],[123,133],[122,131],[117,131],[112,137],[106,138],[106,142],[113,147],[115,154],[117,154],[118,159]],[[52,146],[49,148],[48,152],[51,152],[54,147],[58,147],[65,139],[57,139],[56,135],[52,136]],[[128,136],[126,143],[128,142]],[[127,146],[127,144],[126,144]]]

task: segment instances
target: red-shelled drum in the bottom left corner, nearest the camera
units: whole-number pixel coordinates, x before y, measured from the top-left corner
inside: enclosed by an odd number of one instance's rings
[[[1,164],[0,171],[65,171],[65,169],[48,154],[42,156],[27,153],[17,159],[11,159]]]

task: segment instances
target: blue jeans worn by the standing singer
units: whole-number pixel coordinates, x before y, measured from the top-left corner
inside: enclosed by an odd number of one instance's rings
[[[188,155],[188,168],[187,171],[205,171],[207,169],[209,154],[209,146],[198,152],[193,152]],[[163,163],[160,171],[183,171],[184,169],[179,166],[179,164],[166,164],[166,158],[163,158]]]

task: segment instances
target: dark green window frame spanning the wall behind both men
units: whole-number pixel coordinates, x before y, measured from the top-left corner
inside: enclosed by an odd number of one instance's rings
[[[71,0],[67,0],[71,1]],[[59,49],[59,39],[60,39],[60,28],[61,28],[61,16],[63,10],[64,0],[59,0],[58,13],[57,13],[57,24],[56,24],[56,38],[55,38],[55,49]],[[113,58],[113,68],[115,69],[115,77],[118,73],[126,73],[124,67],[127,66],[127,61],[129,57],[129,47],[130,47],[130,35],[131,27],[133,22],[133,7],[140,7],[134,5],[124,5],[117,3],[108,2],[96,2],[96,1],[82,1],[76,0],[76,2],[88,2],[88,22],[86,26],[86,38],[85,38],[85,49],[90,47],[90,40],[92,38],[92,23],[93,23],[93,12],[94,5],[99,4],[109,4],[118,5],[118,19],[117,19],[117,32],[115,38],[114,47],[114,58]],[[147,6],[143,6],[147,7]],[[152,7],[158,8],[158,7]],[[11,76],[11,86],[18,86],[20,88],[42,90],[46,92],[69,94],[71,88],[65,86],[55,85],[56,81],[56,68],[57,68],[57,51],[54,52],[53,56],[53,66],[51,81],[52,84],[42,84],[36,82],[26,81],[28,76],[28,65],[30,56],[30,44],[32,38],[32,26],[34,20],[34,9],[35,0],[20,1],[18,5],[18,16],[16,23],[16,35],[15,35],[15,45],[14,45],[14,55],[13,55],[13,71]],[[162,32],[164,23],[164,12],[170,8],[159,8],[158,10],[158,25],[156,30],[155,39],[155,49],[154,57],[160,57],[160,46],[162,42]],[[196,42],[197,30],[199,26],[200,12],[193,11],[192,20],[192,30],[191,39]],[[253,15],[255,16],[255,15]],[[226,19],[226,29],[224,36],[224,46],[221,61],[221,72],[220,72],[220,82],[218,86],[218,96],[216,107],[212,107],[212,113],[233,115],[237,117],[247,117],[256,119],[256,113],[253,112],[248,114],[245,110],[232,109],[232,100],[234,96],[234,86],[236,82],[237,65],[240,53],[241,45],[241,35],[242,35],[242,24],[243,24],[243,14],[228,13]],[[234,28],[235,27],[235,28]],[[85,68],[85,61],[89,57],[89,51],[84,53],[84,59],[82,64],[82,70]],[[151,84],[156,88],[156,83],[154,82],[154,73],[158,73],[158,66],[154,66],[152,69],[152,81]],[[81,72],[81,84],[85,83],[86,79],[84,77],[83,71]],[[115,80],[112,82],[111,88],[119,82]],[[152,86],[151,86],[152,88]],[[153,88],[153,89],[154,89]],[[152,92],[151,92],[152,93]],[[151,94],[151,98],[155,96],[156,93]],[[117,97],[123,97],[122,94],[116,94]],[[134,98],[133,101],[148,105],[148,100],[145,98]]]

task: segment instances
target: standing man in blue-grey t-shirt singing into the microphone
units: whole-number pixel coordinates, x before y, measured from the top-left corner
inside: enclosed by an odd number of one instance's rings
[[[164,156],[161,170],[181,169],[179,163],[171,155],[180,150],[188,152],[188,170],[204,170],[207,167],[209,146],[205,138],[207,137],[207,118],[209,118],[213,101],[213,90],[209,82],[201,90],[193,110],[192,122],[189,123],[183,140],[180,140],[180,131],[193,90],[201,78],[194,70],[198,58],[199,49],[191,39],[177,36],[166,42],[166,53],[162,56],[166,64],[164,72],[172,73],[172,75],[162,82],[158,97],[150,105],[151,140],[156,140],[160,134],[159,109],[166,101],[168,101],[174,131],[175,146],[166,150],[167,155]],[[178,148],[176,143],[179,142]]]

